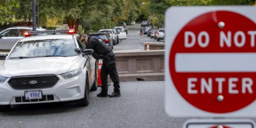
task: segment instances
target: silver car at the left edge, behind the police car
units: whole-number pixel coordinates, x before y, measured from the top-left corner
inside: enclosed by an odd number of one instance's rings
[[[37,28],[37,31],[43,31],[46,29]],[[0,50],[10,51],[14,44],[24,38],[24,31],[32,31],[32,27],[17,26],[5,29],[0,32]]]

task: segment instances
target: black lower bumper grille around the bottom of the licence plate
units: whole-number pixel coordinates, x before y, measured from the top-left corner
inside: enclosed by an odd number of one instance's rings
[[[42,99],[33,99],[33,100],[26,100],[25,97],[15,97],[16,103],[22,102],[40,102],[40,101],[51,101],[54,100],[53,95],[43,95]]]

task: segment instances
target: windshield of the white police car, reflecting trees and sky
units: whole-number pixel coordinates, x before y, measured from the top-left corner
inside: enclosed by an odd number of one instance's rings
[[[47,39],[18,42],[12,52],[10,59],[33,58],[51,56],[75,56],[76,48],[74,39]]]

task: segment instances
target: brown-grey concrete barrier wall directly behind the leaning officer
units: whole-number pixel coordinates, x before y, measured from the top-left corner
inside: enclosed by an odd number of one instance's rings
[[[114,51],[120,81],[164,80],[164,52]]]

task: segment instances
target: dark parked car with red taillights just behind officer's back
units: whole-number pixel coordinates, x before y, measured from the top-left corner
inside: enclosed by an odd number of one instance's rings
[[[93,32],[93,33],[89,33],[89,37],[96,37],[96,38],[102,40],[104,43],[106,43],[109,47],[114,49],[114,47],[113,47],[113,39],[110,38],[109,33]]]

